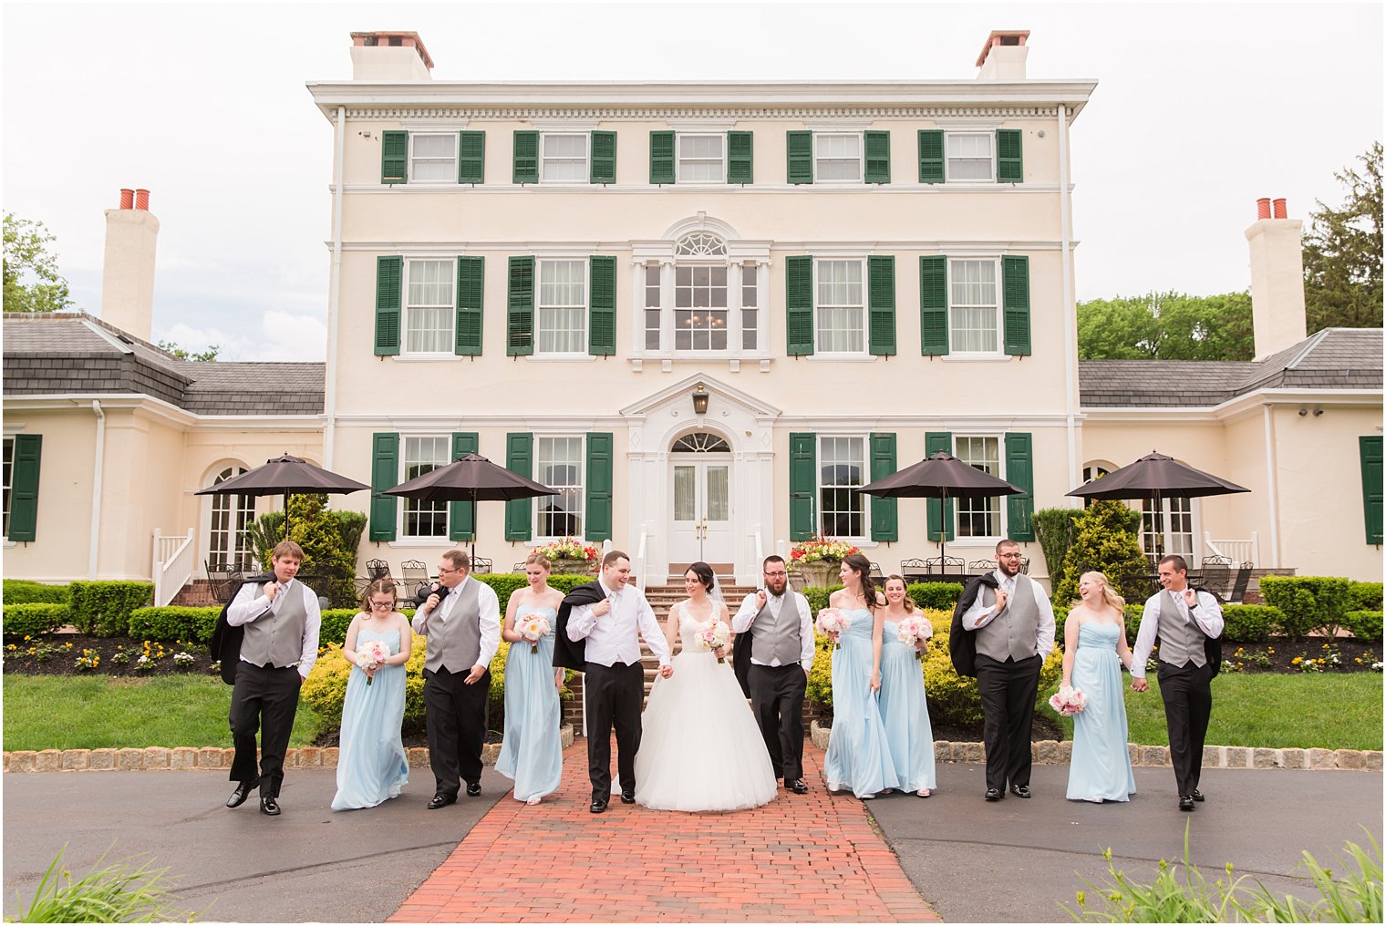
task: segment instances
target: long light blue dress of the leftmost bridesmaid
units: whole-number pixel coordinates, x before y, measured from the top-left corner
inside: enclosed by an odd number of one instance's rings
[[[358,631],[356,645],[380,640],[399,654],[399,631]],[[337,755],[337,796],[333,810],[376,807],[409,782],[409,760],[399,728],[405,721],[405,667],[381,665],[366,683],[366,672],[352,665],[342,704],[341,746]]]

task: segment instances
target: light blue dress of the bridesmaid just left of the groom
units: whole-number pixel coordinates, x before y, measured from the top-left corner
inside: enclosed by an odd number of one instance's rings
[[[496,771],[514,779],[516,800],[527,801],[559,790],[563,780],[563,744],[559,742],[559,689],[553,685],[552,607],[521,604],[518,627],[529,614],[549,621],[549,632],[534,652],[529,640],[510,645],[506,656],[506,729],[496,757]]]

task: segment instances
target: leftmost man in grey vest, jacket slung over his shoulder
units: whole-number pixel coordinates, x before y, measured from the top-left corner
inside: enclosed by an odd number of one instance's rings
[[[259,786],[261,812],[279,816],[284,753],[298,713],[298,689],[317,661],[322,613],[313,589],[294,578],[304,548],[281,541],[270,559],[273,581],[244,584],[226,610],[226,622],[244,628],[229,715],[236,746],[230,779],[237,785],[226,805],[240,807]],[[256,731],[262,731],[258,774]]]

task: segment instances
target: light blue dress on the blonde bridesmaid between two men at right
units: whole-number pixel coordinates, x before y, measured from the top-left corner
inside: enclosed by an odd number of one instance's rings
[[[1088,696],[1088,704],[1073,717],[1069,800],[1124,801],[1135,794],[1117,656],[1120,634],[1117,624],[1088,621],[1078,628],[1069,681]]]

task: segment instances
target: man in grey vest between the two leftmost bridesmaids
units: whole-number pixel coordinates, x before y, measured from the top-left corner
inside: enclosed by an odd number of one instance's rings
[[[420,592],[414,634],[424,650],[424,725],[434,796],[428,810],[481,794],[481,747],[486,742],[486,699],[491,658],[500,646],[500,602],[485,582],[467,575],[471,557],[448,550],[438,563],[438,581]]]

